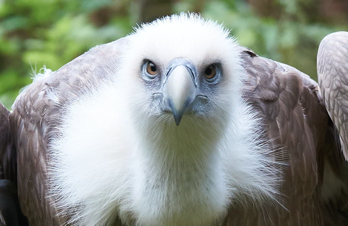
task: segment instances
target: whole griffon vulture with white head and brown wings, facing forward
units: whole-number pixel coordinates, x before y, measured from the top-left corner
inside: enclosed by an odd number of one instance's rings
[[[31,226],[347,225],[347,37],[321,45],[323,94],[195,14],[45,69],[1,129],[23,214]]]

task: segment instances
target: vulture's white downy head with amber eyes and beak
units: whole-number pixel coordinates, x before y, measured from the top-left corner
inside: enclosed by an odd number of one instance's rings
[[[210,128],[201,136],[216,140],[240,99],[240,47],[228,31],[194,15],[166,17],[138,28],[128,48],[120,73],[127,74],[136,127],[151,137]]]

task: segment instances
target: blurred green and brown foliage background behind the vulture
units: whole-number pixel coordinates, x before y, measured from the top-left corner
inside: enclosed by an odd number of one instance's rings
[[[56,70],[137,23],[181,11],[223,23],[241,45],[314,79],[321,39],[348,30],[346,0],[0,0],[0,101],[10,108],[44,65]]]

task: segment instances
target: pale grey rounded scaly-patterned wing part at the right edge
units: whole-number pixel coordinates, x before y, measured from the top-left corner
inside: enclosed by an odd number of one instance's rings
[[[318,49],[317,73],[326,109],[338,128],[348,159],[348,32],[324,37]]]

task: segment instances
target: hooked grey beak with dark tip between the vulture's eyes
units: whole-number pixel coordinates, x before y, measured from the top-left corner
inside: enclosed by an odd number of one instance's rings
[[[178,126],[185,110],[196,97],[196,68],[187,59],[177,58],[168,66],[167,72],[162,94]]]

